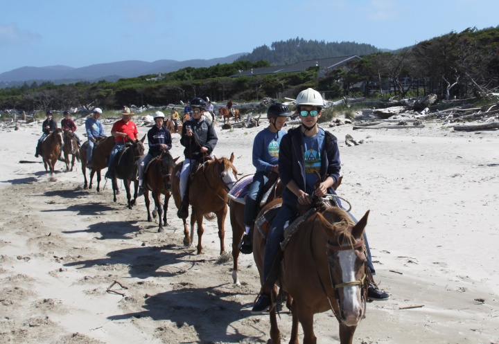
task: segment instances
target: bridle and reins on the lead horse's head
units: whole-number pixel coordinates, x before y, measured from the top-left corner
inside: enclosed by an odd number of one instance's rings
[[[315,224],[315,221],[313,223]],[[312,251],[313,228],[314,228],[314,225],[310,229],[310,255],[312,256],[312,260],[315,264],[315,260],[313,257],[313,251]],[[368,283],[369,283],[369,280],[367,278],[367,264],[364,263],[364,275],[362,276],[362,278],[360,278],[360,280],[354,280],[354,281],[349,281],[349,282],[343,282],[340,284],[335,284],[335,282],[333,281],[333,273],[331,272],[331,264],[329,264],[329,253],[331,251],[355,250],[356,248],[359,248],[362,246],[364,246],[364,250],[365,250],[365,242],[364,242],[363,237],[358,242],[354,243],[353,245],[344,245],[344,246],[333,245],[333,244],[329,243],[329,240],[326,243],[326,248],[327,248],[326,253],[328,256],[328,268],[329,268],[329,280],[331,282],[331,287],[333,287],[333,290],[335,293],[336,302],[338,303],[338,311],[340,311],[340,309],[341,309],[340,294],[338,293],[338,289],[343,288],[343,287],[350,287],[350,286],[358,285],[358,286],[360,286],[360,292],[361,292],[361,296],[362,296],[362,300],[361,300],[361,302],[363,304],[362,314],[365,315],[366,305],[367,305],[367,287],[368,287]],[[333,314],[335,315],[336,320],[338,320],[338,323],[342,323],[343,320],[342,320],[340,314],[335,312],[335,310],[333,308],[333,304],[331,303],[331,299],[329,298],[329,296],[326,292],[326,288],[324,287],[324,284],[322,283],[322,279],[320,278],[320,275],[319,275],[319,270],[317,269],[317,264],[315,264],[315,271],[317,272],[317,278],[319,278],[319,282],[320,282],[322,291],[324,291],[324,295],[326,296],[326,298],[329,302],[329,307],[331,307],[331,311],[333,311]]]

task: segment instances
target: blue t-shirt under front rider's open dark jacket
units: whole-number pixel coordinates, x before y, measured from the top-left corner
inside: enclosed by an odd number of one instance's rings
[[[322,147],[324,147],[324,130],[319,128],[319,134],[308,137],[305,134],[301,134],[304,143],[304,161],[305,161],[305,192],[308,194],[313,194],[314,183],[317,181],[317,175],[315,172],[320,174],[320,166],[322,163],[322,156],[320,152]]]

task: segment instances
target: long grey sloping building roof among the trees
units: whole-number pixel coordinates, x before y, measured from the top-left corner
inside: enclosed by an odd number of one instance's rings
[[[346,64],[347,62],[353,60],[361,60],[357,55],[350,56],[339,56],[339,57],[329,57],[327,59],[315,59],[297,62],[295,64],[281,65],[281,66],[270,66],[263,68],[252,68],[247,71],[240,71],[239,73],[231,75],[231,78],[236,78],[238,76],[252,76],[252,75],[265,75],[265,74],[275,74],[275,73],[296,73],[301,71],[306,71],[306,69],[318,66],[319,69],[335,69]]]

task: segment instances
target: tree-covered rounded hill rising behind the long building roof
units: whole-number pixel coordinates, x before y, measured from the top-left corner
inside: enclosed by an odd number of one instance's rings
[[[270,46],[263,45],[254,48],[252,53],[241,55],[238,61],[267,60],[273,65],[295,64],[297,62],[325,59],[349,55],[369,55],[378,53],[380,49],[371,44],[356,42],[324,42],[305,40],[302,38],[273,42]]]

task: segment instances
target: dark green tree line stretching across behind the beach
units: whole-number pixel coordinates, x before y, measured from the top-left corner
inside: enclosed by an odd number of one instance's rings
[[[291,44],[272,44],[272,51],[281,57],[290,56],[290,46],[310,45],[302,39],[287,42]],[[326,46],[324,42],[317,44]],[[356,54],[349,51],[346,55]],[[313,67],[299,73],[229,77],[238,71],[270,66],[270,61],[277,61],[268,57],[255,62],[238,60],[211,67],[188,67],[161,77],[143,75],[116,82],[24,84],[0,90],[0,109],[42,111],[96,106],[121,109],[123,105],[178,104],[195,97],[243,102],[278,95],[294,98],[307,87],[325,92],[328,99],[426,96],[428,93],[435,93],[441,99],[465,98],[499,88],[499,26],[484,30],[467,28],[461,33],[451,32],[399,51],[361,55],[362,60],[329,71]]]

